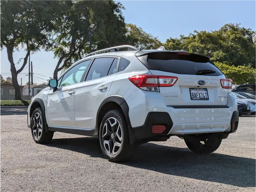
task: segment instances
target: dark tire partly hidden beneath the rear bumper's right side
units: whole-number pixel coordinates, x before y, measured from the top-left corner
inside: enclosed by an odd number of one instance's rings
[[[214,137],[214,136],[209,136],[207,140],[204,142],[204,144],[202,144],[200,140],[196,140],[196,139],[193,139],[193,140],[184,139],[184,140],[187,147],[194,153],[198,153],[198,154],[212,153],[219,148],[222,142],[222,139],[219,139],[218,137]]]

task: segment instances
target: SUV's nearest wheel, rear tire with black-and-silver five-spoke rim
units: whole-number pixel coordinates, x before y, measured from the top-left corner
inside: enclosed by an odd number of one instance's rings
[[[122,110],[112,110],[105,114],[100,125],[100,146],[110,161],[129,160],[135,149],[130,145],[128,127]]]

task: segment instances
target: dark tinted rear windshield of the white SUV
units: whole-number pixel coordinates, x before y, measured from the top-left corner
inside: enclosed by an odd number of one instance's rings
[[[183,55],[177,52],[151,52],[137,58],[150,70],[185,75],[223,75],[209,58],[196,54]]]

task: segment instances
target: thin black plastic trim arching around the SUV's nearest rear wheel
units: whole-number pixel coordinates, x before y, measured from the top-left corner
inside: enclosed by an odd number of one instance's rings
[[[130,123],[130,118],[129,118],[129,107],[126,103],[126,101],[124,100],[123,97],[121,96],[117,96],[117,95],[113,95],[113,96],[110,96],[110,97],[107,97],[100,105],[100,107],[98,108],[98,111],[97,111],[97,117],[96,117],[96,123],[98,122],[98,116],[99,116],[99,113],[101,111],[101,108],[107,103],[107,102],[115,102],[117,103],[123,113],[124,113],[124,117],[126,118],[126,122],[127,122],[127,126],[128,126],[128,132],[129,132],[129,139],[130,139],[130,144],[132,145],[134,142],[135,142],[135,134],[133,132],[133,129],[132,129],[132,126],[131,126],[131,123]],[[99,126],[96,126],[96,128],[98,128]]]

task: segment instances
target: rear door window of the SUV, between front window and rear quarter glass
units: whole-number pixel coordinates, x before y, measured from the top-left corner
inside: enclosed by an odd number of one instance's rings
[[[98,79],[107,76],[108,70],[114,58],[102,57],[96,58],[91,65],[89,73],[86,77],[86,81]]]

